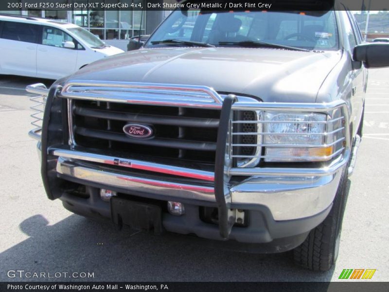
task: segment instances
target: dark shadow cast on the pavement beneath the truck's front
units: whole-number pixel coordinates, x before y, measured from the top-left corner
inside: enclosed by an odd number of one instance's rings
[[[42,215],[22,221],[29,236],[0,254],[0,281],[330,281],[294,266],[289,253],[258,255],[199,245],[189,236],[154,236],[78,215],[50,226]],[[8,270],[94,273],[93,278],[8,278]]]

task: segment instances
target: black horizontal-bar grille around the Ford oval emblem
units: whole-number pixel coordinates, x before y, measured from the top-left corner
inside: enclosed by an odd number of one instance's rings
[[[74,100],[73,131],[77,145],[154,158],[213,165],[220,110],[158,107]],[[151,139],[124,134],[136,123],[151,127]],[[160,160],[159,160],[160,161]]]

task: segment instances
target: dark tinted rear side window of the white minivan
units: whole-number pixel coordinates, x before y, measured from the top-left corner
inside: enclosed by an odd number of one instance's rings
[[[39,26],[29,23],[4,21],[1,38],[36,43]]]

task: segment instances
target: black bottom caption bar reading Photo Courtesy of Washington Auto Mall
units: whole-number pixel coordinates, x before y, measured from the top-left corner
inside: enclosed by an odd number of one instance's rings
[[[260,273],[260,272],[259,272]],[[258,275],[260,277],[260,275]],[[387,292],[386,282],[1,282],[1,292]]]

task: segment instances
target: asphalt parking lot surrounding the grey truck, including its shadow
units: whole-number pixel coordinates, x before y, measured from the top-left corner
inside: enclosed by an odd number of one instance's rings
[[[27,135],[33,111],[24,88],[40,81],[0,76],[0,281],[336,281],[343,269],[376,269],[370,281],[389,281],[389,69],[370,71],[339,257],[325,273],[294,266],[288,253],[245,254],[175,235],[118,231],[110,222],[85,219],[49,201],[36,142]],[[46,277],[9,277],[10,270]],[[58,272],[61,277],[47,277]]]

